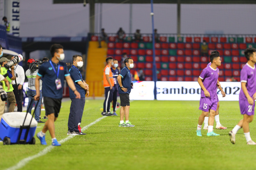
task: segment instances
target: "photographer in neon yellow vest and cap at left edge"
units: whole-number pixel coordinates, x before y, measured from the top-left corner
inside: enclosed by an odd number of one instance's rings
[[[11,72],[4,68],[4,64],[7,64],[7,62],[9,62],[11,60],[8,60],[5,57],[0,58],[0,64],[1,64],[1,74],[4,75],[6,73],[8,73],[8,76],[6,77],[6,79],[9,81],[10,83],[10,89],[8,90],[8,87],[5,86],[5,84],[3,84],[3,90],[7,92],[7,96],[8,96],[8,101],[10,103],[10,107],[9,107],[9,112],[13,112],[16,106],[16,100],[15,100],[15,96],[13,93],[13,87],[11,84],[11,80],[15,80],[15,76],[14,76],[14,66],[11,66]]]

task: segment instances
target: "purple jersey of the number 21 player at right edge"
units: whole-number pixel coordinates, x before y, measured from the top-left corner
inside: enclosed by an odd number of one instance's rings
[[[253,94],[256,92],[256,69],[251,67],[248,63],[241,70],[240,74],[241,82],[246,83],[246,89],[251,98],[253,98]],[[239,93],[239,100],[247,100],[243,89],[241,88]]]

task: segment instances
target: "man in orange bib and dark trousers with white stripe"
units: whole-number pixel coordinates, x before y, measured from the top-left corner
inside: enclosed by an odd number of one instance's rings
[[[111,72],[111,66],[113,66],[113,58],[106,58],[107,66],[104,68],[103,72],[103,86],[105,88],[105,100],[103,104],[102,116],[112,116],[110,113],[110,102],[112,101],[112,89],[114,86],[113,74]]]

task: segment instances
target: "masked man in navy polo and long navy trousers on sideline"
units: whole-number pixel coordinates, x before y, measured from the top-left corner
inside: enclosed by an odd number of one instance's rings
[[[74,55],[73,56],[73,65],[69,69],[70,77],[72,78],[76,90],[80,93],[81,98],[76,99],[76,96],[69,88],[69,94],[71,99],[70,105],[70,113],[68,116],[68,131],[67,134],[71,135],[84,135],[85,133],[81,132],[81,120],[84,111],[84,103],[85,103],[85,93],[87,93],[87,97],[89,96],[89,86],[85,83],[82,78],[82,74],[80,72],[80,68],[83,67],[83,59],[82,56]]]

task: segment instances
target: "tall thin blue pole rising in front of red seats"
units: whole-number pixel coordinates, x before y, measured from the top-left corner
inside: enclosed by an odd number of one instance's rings
[[[157,81],[157,76],[156,76],[156,60],[155,60],[155,32],[154,32],[154,12],[153,12],[153,0],[151,0],[151,13],[152,17],[152,45],[153,45],[153,81],[155,83],[154,86],[154,98],[156,100],[156,81]]]

